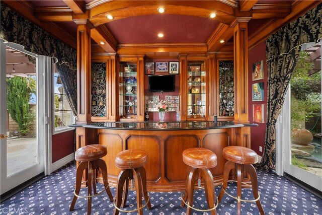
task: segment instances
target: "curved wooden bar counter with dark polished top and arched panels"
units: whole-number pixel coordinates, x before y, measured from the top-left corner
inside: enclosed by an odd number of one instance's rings
[[[215,185],[223,178],[225,159],[222,149],[241,146],[240,129],[254,124],[237,124],[230,121],[182,121],[182,122],[93,122],[74,125],[77,129],[90,129],[88,144],[102,144],[108,154],[103,159],[108,167],[109,182],[116,184],[120,169],[114,165],[115,156],[128,149],[147,152],[145,165],[149,191],[180,191],[185,188],[187,165],[182,161],[185,149],[200,147],[213,151],[218,164],[210,169]],[[77,142],[77,140],[76,140]],[[79,143],[78,143],[79,145]],[[81,145],[80,145],[81,146]],[[250,147],[250,146],[244,146]],[[78,147],[77,147],[78,148]]]

